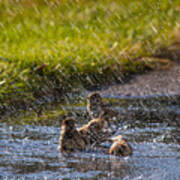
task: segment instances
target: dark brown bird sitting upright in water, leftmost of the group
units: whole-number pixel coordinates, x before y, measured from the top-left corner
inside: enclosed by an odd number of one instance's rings
[[[86,149],[86,141],[77,131],[74,118],[66,118],[62,122],[59,149],[68,153]]]

